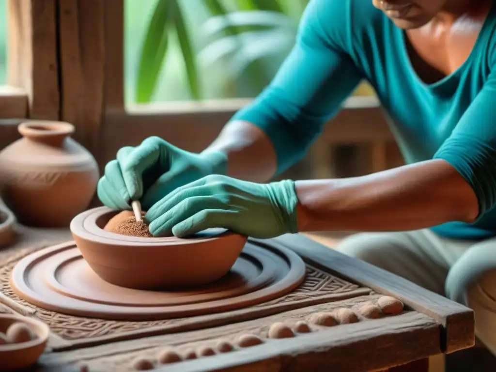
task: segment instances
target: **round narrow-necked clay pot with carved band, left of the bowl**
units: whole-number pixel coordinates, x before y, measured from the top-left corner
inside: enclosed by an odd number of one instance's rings
[[[17,220],[36,227],[67,227],[91,201],[99,179],[93,156],[64,122],[19,125],[23,138],[0,152],[2,197]]]

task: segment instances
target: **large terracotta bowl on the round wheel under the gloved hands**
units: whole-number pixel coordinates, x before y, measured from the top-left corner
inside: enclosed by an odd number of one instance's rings
[[[107,207],[87,210],[70,223],[84,259],[103,280],[127,288],[199,286],[224,276],[247,237],[209,229],[188,239],[136,238],[105,231],[117,214]]]

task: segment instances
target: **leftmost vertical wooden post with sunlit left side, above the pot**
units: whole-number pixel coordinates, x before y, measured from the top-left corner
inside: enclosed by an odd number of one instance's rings
[[[56,0],[8,0],[8,84],[28,96],[28,117],[58,120]]]

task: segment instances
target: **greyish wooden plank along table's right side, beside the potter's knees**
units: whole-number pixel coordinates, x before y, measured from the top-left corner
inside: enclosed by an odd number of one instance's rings
[[[256,240],[263,244],[263,241]],[[441,339],[446,354],[475,345],[474,311],[428,291],[406,279],[346,256],[300,234],[283,235],[270,240],[300,254],[309,263],[323,267],[351,282],[396,297],[413,310],[432,316],[444,327]]]

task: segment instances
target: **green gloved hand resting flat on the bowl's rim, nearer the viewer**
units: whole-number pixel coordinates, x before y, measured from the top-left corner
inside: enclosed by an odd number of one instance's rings
[[[207,176],[179,187],[153,205],[145,218],[156,237],[186,237],[226,228],[253,238],[297,233],[298,198],[293,181],[255,184]]]

